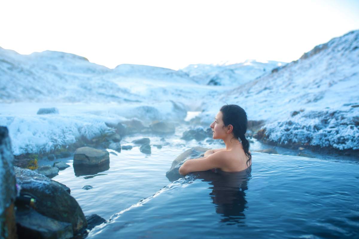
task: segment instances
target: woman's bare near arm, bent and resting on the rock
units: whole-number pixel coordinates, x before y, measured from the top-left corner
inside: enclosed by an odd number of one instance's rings
[[[224,158],[223,151],[215,152],[210,156],[187,160],[182,164],[178,172],[187,175],[190,172],[206,171],[212,168],[221,168]]]

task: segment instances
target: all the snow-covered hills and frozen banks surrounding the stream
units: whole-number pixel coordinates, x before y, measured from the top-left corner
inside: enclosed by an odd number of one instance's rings
[[[0,125],[9,128],[17,155],[92,138],[109,130],[105,123],[131,118],[184,123],[187,111],[202,111],[199,121],[209,124],[228,103],[265,120],[266,140],[359,149],[358,82],[359,31],[288,64],[251,60],[180,71],[109,69],[69,53],[0,48]],[[37,115],[41,107],[59,114]]]

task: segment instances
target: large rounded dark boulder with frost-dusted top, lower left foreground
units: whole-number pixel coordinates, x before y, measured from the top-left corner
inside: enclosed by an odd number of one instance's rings
[[[87,228],[85,215],[76,200],[65,191],[64,185],[29,169],[15,167],[15,175],[21,193],[36,199],[35,210],[39,214],[70,223],[74,235]]]

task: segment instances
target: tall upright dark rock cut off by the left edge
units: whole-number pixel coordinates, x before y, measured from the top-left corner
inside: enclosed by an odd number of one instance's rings
[[[0,238],[17,238],[14,210],[16,181],[13,163],[8,128],[0,126]]]

